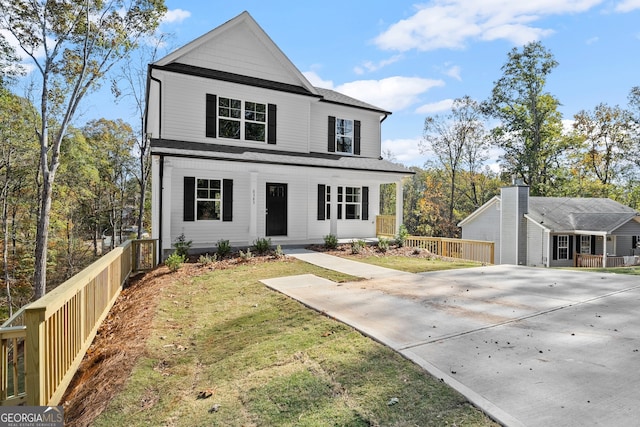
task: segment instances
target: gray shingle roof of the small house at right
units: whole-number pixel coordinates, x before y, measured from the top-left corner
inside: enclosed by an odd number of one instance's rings
[[[552,231],[611,232],[638,212],[606,198],[530,197],[527,217]]]

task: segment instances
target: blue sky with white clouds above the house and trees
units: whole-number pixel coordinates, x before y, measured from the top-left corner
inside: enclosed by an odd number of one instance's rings
[[[393,114],[382,125],[384,151],[422,166],[424,118],[455,98],[486,99],[513,47],[540,40],[559,66],[548,90],[565,120],[599,103],[627,106],[640,85],[640,0],[285,1],[167,0],[161,31],[177,48],[248,11],[315,86]],[[87,99],[111,119],[108,91]],[[85,107],[85,108],[86,108]],[[93,114],[97,114],[94,111]],[[90,114],[91,115],[91,114]],[[91,117],[93,118],[93,117]]]

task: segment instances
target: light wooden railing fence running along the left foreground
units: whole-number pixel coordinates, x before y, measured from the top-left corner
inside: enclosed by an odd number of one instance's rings
[[[0,327],[0,405],[57,405],[132,272],[155,267],[155,240],[129,240]]]

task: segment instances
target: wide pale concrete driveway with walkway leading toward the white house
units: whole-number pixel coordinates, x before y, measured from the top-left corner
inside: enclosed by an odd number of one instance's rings
[[[408,274],[294,256],[369,280],[263,282],[397,350],[504,425],[640,422],[637,276],[507,265]]]

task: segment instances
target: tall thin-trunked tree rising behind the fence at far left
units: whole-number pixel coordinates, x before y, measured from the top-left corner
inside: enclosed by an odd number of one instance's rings
[[[37,131],[42,178],[35,250],[34,296],[46,292],[53,184],[61,145],[83,97],[114,64],[153,33],[166,11],[163,0],[0,1],[0,29],[15,37],[39,74]],[[2,34],[2,33],[0,33]]]

